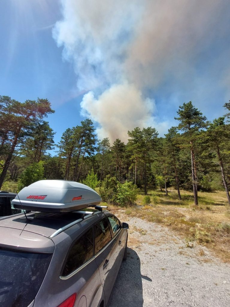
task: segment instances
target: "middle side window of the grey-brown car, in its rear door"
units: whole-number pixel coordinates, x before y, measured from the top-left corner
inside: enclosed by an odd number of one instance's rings
[[[95,225],[95,254],[101,251],[111,239],[109,223],[106,217],[104,217]]]

